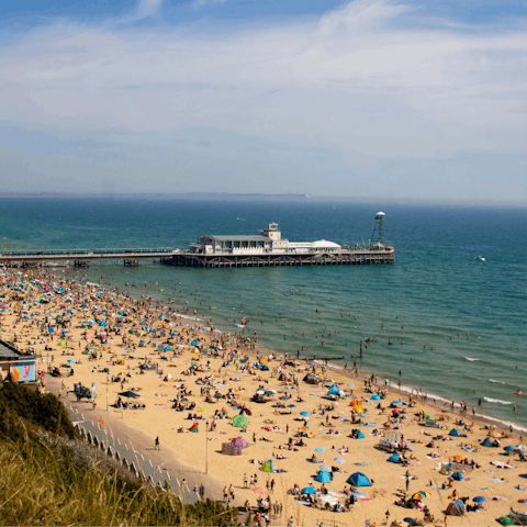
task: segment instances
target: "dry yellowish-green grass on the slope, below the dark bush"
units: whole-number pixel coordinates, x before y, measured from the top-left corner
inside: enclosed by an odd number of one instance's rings
[[[29,439],[29,438],[27,438]],[[135,527],[236,525],[233,511],[206,502],[186,506],[171,493],[79,469],[68,458],[31,439],[0,442],[0,525]]]

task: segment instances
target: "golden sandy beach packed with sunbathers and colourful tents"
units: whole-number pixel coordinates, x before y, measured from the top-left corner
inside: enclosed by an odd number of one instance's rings
[[[60,281],[41,270],[5,270],[0,277],[1,338],[41,356],[44,390],[77,405],[87,419],[102,417],[103,426],[133,438],[138,451],[146,456],[148,450],[190,486],[203,482],[205,496],[221,500],[229,485],[236,505],[248,501],[256,507],[258,497],[270,496],[271,509],[277,501],[282,506],[271,525],[287,525],[292,517],[294,526],[321,520],[379,526],[404,518],[423,522],[426,515],[445,525],[452,501],[467,497],[468,508],[476,496],[483,497],[476,500],[482,507],[448,516],[449,526],[494,525],[511,507],[527,509],[527,479],[520,476],[527,473],[520,461],[524,438],[514,429],[512,435],[493,429],[471,407],[457,406],[453,413],[384,381],[378,384],[363,371],[326,370],[318,362],[285,358],[280,350],[261,349],[253,336],[221,334],[208,321],[182,317],[172,304]],[[63,377],[51,377],[53,368]],[[71,368],[74,374],[66,377]],[[304,381],[309,373],[316,383]],[[77,401],[74,383],[79,382],[90,389],[96,383],[96,405]],[[120,397],[126,391],[141,399]],[[247,425],[233,426],[240,413]],[[427,421],[435,425],[425,426]],[[189,431],[195,425],[199,431]],[[453,428],[459,437],[450,435]],[[363,437],[350,437],[354,430]],[[222,453],[222,444],[237,437],[247,442],[242,455]],[[159,451],[154,450],[156,438]],[[389,461],[391,452],[378,448],[383,439],[392,439],[404,463]],[[485,439],[500,446],[485,447]],[[260,470],[268,460],[279,471]],[[441,470],[456,461],[450,472]],[[324,483],[328,494],[321,494],[323,483],[315,481],[323,466],[333,473]],[[451,478],[457,471],[461,481]],[[371,486],[351,487],[347,480],[356,472]],[[250,485],[255,475],[257,483]],[[295,486],[314,486],[314,504],[305,494],[293,495]],[[351,491],[356,503],[345,506]],[[419,492],[424,497],[408,502]],[[344,512],[327,511],[326,503],[334,508],[338,503]]]

